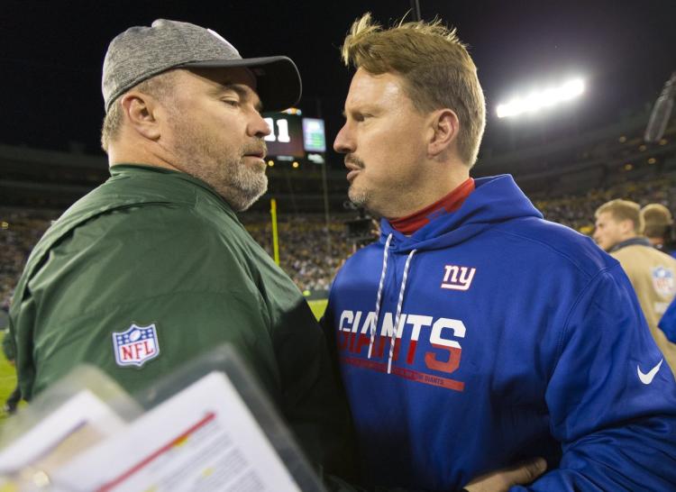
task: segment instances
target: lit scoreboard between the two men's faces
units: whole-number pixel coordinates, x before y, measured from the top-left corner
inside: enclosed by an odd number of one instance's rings
[[[295,108],[284,113],[266,113],[263,117],[270,129],[270,134],[265,137],[270,158],[306,159],[324,163],[324,120],[304,118]]]

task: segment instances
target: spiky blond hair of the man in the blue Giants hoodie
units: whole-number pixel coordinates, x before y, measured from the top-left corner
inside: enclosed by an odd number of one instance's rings
[[[430,112],[450,108],[458,115],[458,152],[473,166],[486,126],[486,103],[477,68],[458,39],[439,19],[432,23],[404,23],[383,30],[370,13],[352,23],[343,42],[346,66],[374,75],[393,72],[417,109]]]

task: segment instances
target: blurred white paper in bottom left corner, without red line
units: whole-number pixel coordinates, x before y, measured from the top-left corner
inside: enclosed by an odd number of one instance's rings
[[[50,455],[59,445],[85,429],[105,438],[120,433],[124,425],[123,420],[92,392],[80,391],[0,452],[0,474],[12,473],[40,460],[53,461],[54,457]]]

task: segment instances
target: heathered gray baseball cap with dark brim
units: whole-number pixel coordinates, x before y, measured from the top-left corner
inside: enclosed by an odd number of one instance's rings
[[[287,57],[242,59],[217,32],[191,23],[158,19],[136,26],[111,41],[105,53],[101,88],[105,112],[117,97],[169,68],[246,67],[256,77],[256,92],[266,111],[296,105],[302,85],[296,64]]]

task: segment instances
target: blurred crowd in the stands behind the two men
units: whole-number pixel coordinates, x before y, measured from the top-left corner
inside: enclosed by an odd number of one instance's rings
[[[550,221],[568,225],[580,232],[593,232],[594,211],[614,198],[626,198],[640,205],[660,203],[674,211],[676,172],[659,178],[627,180],[607,189],[568,196],[530,196],[534,205]],[[57,212],[0,209],[0,308],[8,309],[14,286],[32,250],[58,216]],[[302,291],[325,291],[336,270],[352,251],[345,221],[346,215],[333,216],[328,227],[323,215],[280,216],[279,260]],[[242,223],[253,238],[273,255],[272,227],[264,214],[242,214]],[[327,241],[328,234],[328,241]]]

